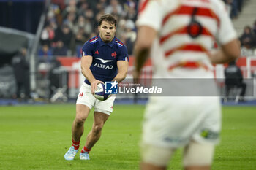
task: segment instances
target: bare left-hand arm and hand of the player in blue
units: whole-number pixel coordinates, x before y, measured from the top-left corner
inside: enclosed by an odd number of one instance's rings
[[[91,73],[90,66],[92,63],[92,56],[85,55],[81,58],[81,70],[84,77],[86,77],[89,82],[91,82],[91,93],[94,93],[95,89],[97,88],[97,84],[101,81],[96,80],[94,75]],[[102,82],[103,83],[103,82]]]

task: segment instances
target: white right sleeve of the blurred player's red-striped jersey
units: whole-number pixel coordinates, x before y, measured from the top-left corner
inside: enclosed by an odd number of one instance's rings
[[[219,7],[219,32],[217,34],[217,41],[221,45],[225,45],[233,39],[237,38],[235,28],[228,16],[227,10],[225,9],[225,5],[222,3]]]

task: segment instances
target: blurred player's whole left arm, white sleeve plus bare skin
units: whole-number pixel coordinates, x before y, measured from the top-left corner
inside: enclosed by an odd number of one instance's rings
[[[134,47],[135,70],[133,77],[135,82],[140,77],[146,59],[149,57],[151,46],[157,37],[157,31],[162,25],[162,6],[160,1],[142,1],[140,13],[136,25],[138,27],[137,39]],[[144,3],[144,4],[143,4]]]

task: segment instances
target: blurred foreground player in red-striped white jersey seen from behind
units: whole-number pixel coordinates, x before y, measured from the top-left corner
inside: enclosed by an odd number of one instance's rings
[[[211,64],[233,61],[240,55],[236,31],[220,0],[144,0],[139,11],[135,79],[151,56],[153,78],[214,82]],[[212,51],[214,42],[219,49]],[[170,90],[185,88],[173,85]],[[141,169],[166,169],[178,147],[184,147],[184,169],[211,169],[221,128],[219,99],[151,97],[143,121]]]

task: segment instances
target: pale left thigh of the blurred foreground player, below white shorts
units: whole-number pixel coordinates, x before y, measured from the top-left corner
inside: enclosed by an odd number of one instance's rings
[[[165,167],[173,156],[176,149],[157,147],[151,144],[142,143],[140,146],[141,159],[144,164]]]

